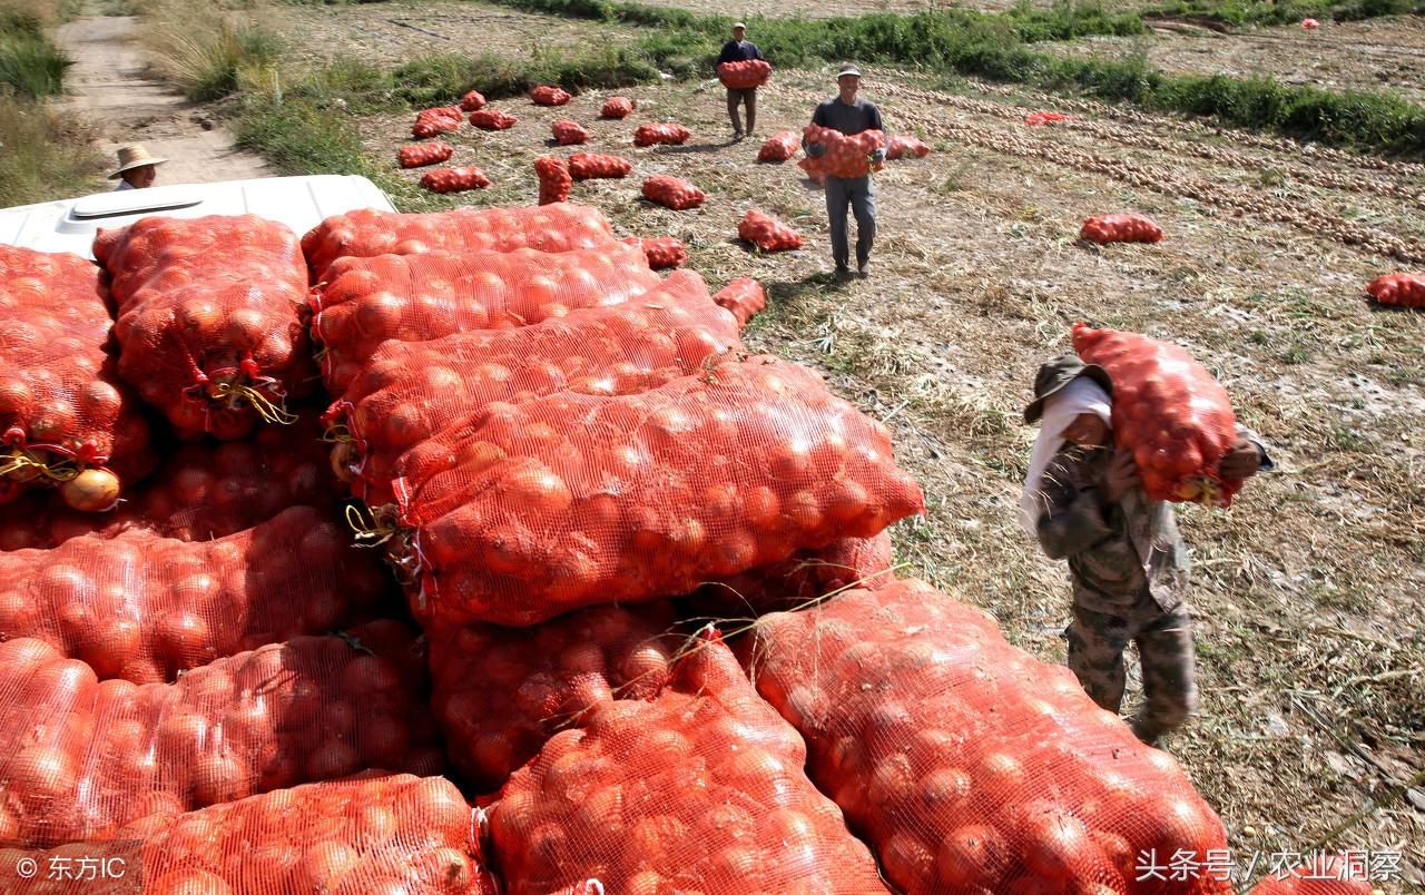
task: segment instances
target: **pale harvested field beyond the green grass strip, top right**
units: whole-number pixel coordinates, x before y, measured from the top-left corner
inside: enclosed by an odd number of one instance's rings
[[[1315,31],[1300,24],[1235,33],[1171,27],[1042,47],[1109,58],[1141,53],[1149,64],[1174,74],[1270,74],[1285,84],[1377,90],[1425,103],[1425,19],[1419,16],[1328,21]]]

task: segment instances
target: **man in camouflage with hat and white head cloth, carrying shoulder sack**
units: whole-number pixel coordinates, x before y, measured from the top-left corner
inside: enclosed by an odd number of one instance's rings
[[[1109,711],[1123,703],[1123,651],[1137,643],[1144,704],[1130,725],[1153,745],[1197,707],[1191,616],[1183,601],[1187,556],[1171,505],[1150,500],[1133,455],[1112,449],[1112,395],[1107,372],[1073,355],[1040,368],[1025,422],[1045,423],[1022,519],[1050,559],[1069,560],[1069,668]],[[1243,480],[1270,467],[1255,433],[1238,426],[1221,476]]]

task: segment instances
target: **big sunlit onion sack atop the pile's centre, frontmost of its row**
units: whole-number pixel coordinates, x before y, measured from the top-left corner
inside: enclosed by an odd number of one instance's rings
[[[455,624],[687,593],[923,506],[886,429],[775,358],[487,408],[399,466],[388,546],[418,611]]]

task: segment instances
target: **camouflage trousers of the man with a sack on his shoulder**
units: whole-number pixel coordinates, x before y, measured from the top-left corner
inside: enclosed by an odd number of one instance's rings
[[[1117,713],[1123,703],[1123,650],[1139,644],[1143,707],[1129,721],[1139,740],[1154,744],[1197,708],[1193,623],[1186,604],[1163,611],[1149,594],[1123,614],[1087,610],[1076,601],[1064,630],[1069,668],[1089,697]]]

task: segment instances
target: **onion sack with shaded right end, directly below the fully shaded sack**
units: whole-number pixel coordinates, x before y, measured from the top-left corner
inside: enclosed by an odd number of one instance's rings
[[[292,507],[208,542],[135,530],[3,553],[0,640],[44,640],[101,678],[172,680],[369,611],[389,579],[349,544],[322,513]]]

